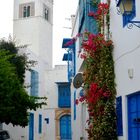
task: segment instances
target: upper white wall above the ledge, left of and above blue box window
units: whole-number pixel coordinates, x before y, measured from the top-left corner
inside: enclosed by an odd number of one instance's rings
[[[58,108],[58,88],[56,82],[68,82],[66,65],[57,65],[54,69],[46,71],[47,108]]]

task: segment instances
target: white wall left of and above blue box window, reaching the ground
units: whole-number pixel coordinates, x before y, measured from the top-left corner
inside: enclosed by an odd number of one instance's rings
[[[58,108],[58,86],[56,82],[67,81],[67,65],[57,65],[52,70],[46,71],[47,106],[44,108],[50,123],[47,124],[47,140],[55,140],[55,110]]]

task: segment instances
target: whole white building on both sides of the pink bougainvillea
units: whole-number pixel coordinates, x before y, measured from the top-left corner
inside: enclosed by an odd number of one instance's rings
[[[72,31],[75,37],[81,30],[93,31],[88,17],[82,17],[81,1]],[[88,0],[82,1],[87,4]],[[101,2],[106,2],[102,0]],[[119,5],[124,2],[128,8],[118,14]],[[139,140],[140,138],[140,2],[139,0],[114,0],[110,5],[110,32],[114,44],[113,59],[116,75],[116,107],[117,107],[117,135],[119,140]],[[86,5],[82,7],[87,8]],[[89,6],[88,6],[89,7]],[[88,9],[88,8],[87,8]],[[87,10],[86,9],[86,10]],[[87,11],[86,11],[87,12]],[[89,12],[89,11],[88,11]],[[123,14],[123,15],[122,15]],[[81,19],[80,19],[81,18]],[[86,23],[84,23],[86,22]],[[87,25],[86,25],[87,24]],[[81,27],[84,25],[84,27]],[[133,27],[132,27],[133,26]],[[94,33],[96,31],[94,30]],[[78,57],[80,49],[79,38],[75,42],[75,69],[76,75],[83,71],[82,60]],[[87,140],[85,131],[88,114],[84,104],[75,105],[75,99],[80,96],[82,88],[71,88],[72,139]],[[119,114],[119,115],[118,115]]]

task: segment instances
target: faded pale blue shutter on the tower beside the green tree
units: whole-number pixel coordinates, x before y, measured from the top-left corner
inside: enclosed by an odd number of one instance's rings
[[[39,89],[39,75],[38,72],[35,70],[31,70],[31,96],[38,96],[38,89]]]

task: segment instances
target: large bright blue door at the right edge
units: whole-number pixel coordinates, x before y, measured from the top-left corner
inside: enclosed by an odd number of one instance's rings
[[[128,96],[128,140],[140,140],[140,92]]]

